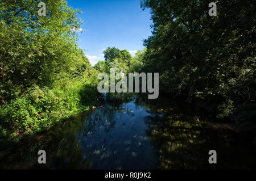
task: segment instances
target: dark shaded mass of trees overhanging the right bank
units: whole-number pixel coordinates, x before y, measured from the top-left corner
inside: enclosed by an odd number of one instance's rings
[[[143,0],[152,14],[144,40],[145,72],[159,72],[162,92],[181,95],[217,117],[255,118],[254,1]]]

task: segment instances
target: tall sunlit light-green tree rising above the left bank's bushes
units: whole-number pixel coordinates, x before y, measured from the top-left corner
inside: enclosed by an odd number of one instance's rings
[[[0,89],[7,97],[16,86],[50,86],[76,64],[77,33],[71,29],[80,28],[78,10],[64,0],[47,0],[47,16],[39,16],[39,2],[0,2]]]

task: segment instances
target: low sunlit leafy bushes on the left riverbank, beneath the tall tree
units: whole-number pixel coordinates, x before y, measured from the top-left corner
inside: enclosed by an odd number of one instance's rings
[[[47,132],[55,124],[96,106],[99,95],[92,81],[73,80],[58,83],[53,89],[40,89],[36,86],[19,98],[2,105],[0,159],[27,137]]]

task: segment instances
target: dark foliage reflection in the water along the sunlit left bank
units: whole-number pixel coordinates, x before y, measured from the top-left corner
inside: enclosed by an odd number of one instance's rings
[[[82,115],[57,124],[45,134],[29,137],[6,159],[5,169],[86,169],[80,141],[76,138]],[[38,163],[38,151],[46,151],[46,164]]]

